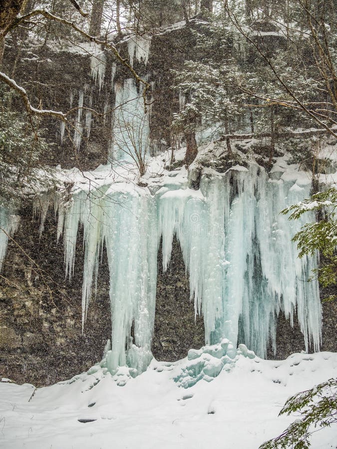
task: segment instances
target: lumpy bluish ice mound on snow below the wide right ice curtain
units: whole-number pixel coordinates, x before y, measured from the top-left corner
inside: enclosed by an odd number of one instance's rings
[[[235,349],[227,338],[216,345],[190,349],[185,366],[173,380],[183,388],[192,387],[202,379],[211,382],[223,369],[230,371],[240,356],[253,359],[255,354],[244,344]]]

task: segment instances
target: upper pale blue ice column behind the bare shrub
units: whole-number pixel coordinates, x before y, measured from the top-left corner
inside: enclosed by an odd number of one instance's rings
[[[126,79],[123,85],[116,83],[110,159],[138,163],[149,149],[149,134],[143,85],[137,88],[133,78]]]

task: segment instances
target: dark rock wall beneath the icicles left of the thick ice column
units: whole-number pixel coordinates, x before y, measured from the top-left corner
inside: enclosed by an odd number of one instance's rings
[[[1,273],[0,377],[48,385],[101,360],[111,335],[107,260],[103,258],[97,295],[92,298],[83,335],[82,260],[79,238],[69,284],[63,270],[62,241],[56,244],[53,214],[48,215],[39,240],[38,223],[32,222],[31,210],[26,215],[22,211],[15,243],[8,245]]]

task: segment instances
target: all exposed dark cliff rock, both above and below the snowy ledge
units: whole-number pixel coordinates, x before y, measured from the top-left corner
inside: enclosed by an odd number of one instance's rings
[[[196,25],[197,26],[197,25]],[[105,164],[111,147],[111,119],[116,91],[114,82],[122,85],[128,76],[114,68],[107,52],[99,53],[96,67],[86,54],[85,45],[76,51],[53,50],[49,47],[26,49],[18,54],[8,42],[5,61],[9,72],[16,60],[16,79],[33,95],[35,104],[67,111],[74,128],[72,142],[60,123],[46,120],[42,126],[57,146],[43,161],[62,167],[89,170]],[[84,47],[84,50],[83,50]],[[120,44],[129,57],[128,43]],[[134,68],[152,83],[150,136],[153,152],[169,146],[170,118],[179,110],[179,97],[171,89],[171,69],[182,66],[193,52],[193,35],[186,28],[168,30],[151,39],[147,65],[134,59]],[[103,66],[99,64],[104,62]],[[172,63],[174,61],[174,64]],[[95,71],[96,70],[96,71]],[[82,97],[81,97],[82,96]],[[88,115],[78,107],[98,111]],[[83,137],[76,147],[76,126],[83,127]],[[88,128],[88,123],[90,127]],[[76,125],[77,124],[77,125]],[[88,132],[89,129],[89,132]],[[61,143],[62,140],[62,143]],[[74,146],[76,148],[74,148]],[[84,333],[81,333],[81,289],[83,250],[77,240],[75,272],[72,282],[64,279],[62,241],[56,244],[56,224],[51,211],[39,239],[38,223],[32,219],[29,203],[19,212],[21,222],[15,238],[9,242],[0,288],[0,375],[16,382],[35,385],[51,384],[88,369],[100,361],[104,345],[110,338],[109,273],[103,252],[97,294],[92,298]],[[336,304],[324,304],[323,350],[337,351]],[[171,264],[162,274],[158,254],[157,298],[152,352],[157,359],[177,360],[191,347],[204,344],[204,325],[194,317],[190,302],[189,282],[179,243],[175,240]],[[278,321],[277,358],[285,358],[304,349],[303,335],[295,317],[294,328],[282,315]],[[269,353],[273,357],[272,352]]]

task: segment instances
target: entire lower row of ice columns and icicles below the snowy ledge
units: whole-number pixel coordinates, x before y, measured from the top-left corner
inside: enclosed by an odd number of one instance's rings
[[[73,188],[65,206],[52,200],[55,209],[61,208],[58,234],[64,228],[69,278],[78,227],[83,226],[83,327],[103,246],[107,251],[112,348],[104,366],[114,372],[127,364],[140,373],[151,360],[157,252],[162,239],[165,270],[174,235],[189,272],[195,313],[204,317],[206,344],[228,338],[265,357],[270,340],[275,348],[276,320],[282,311],[292,323],[297,313],[306,349],[311,345],[317,351],[319,287],[316,280],[307,281],[317,257],[299,259],[291,241],[314,217],[309,213],[288,222],[280,215],[286,206],[310,196],[310,183],[269,179],[252,163],[249,169],[236,166],[224,174],[204,169],[198,191],[174,176],[155,187],[82,184]]]

